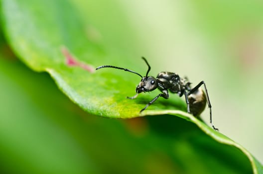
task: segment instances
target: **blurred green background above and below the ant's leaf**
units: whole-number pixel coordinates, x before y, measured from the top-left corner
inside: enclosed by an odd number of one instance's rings
[[[187,76],[193,84],[204,80],[216,127],[263,163],[262,1],[70,2],[80,14],[89,13],[87,21],[93,24],[89,30],[96,42],[112,45],[107,51],[129,54],[138,64],[145,56],[153,76],[171,71]],[[209,138],[195,139],[205,137],[204,133],[179,118],[111,120],[88,115],[46,73],[23,65],[3,36],[0,84],[0,169],[4,173],[209,173],[216,163],[223,163],[228,173],[239,168],[237,162],[229,167],[220,154],[216,154],[220,162],[207,162],[206,168],[199,164],[213,158],[215,149],[223,145]],[[208,123],[208,110],[202,115]],[[173,127],[174,122],[181,127]],[[207,142],[211,145],[205,146]],[[196,149],[203,152],[202,157],[187,156]],[[240,164],[246,162],[240,159]],[[187,161],[195,165],[189,169]]]

